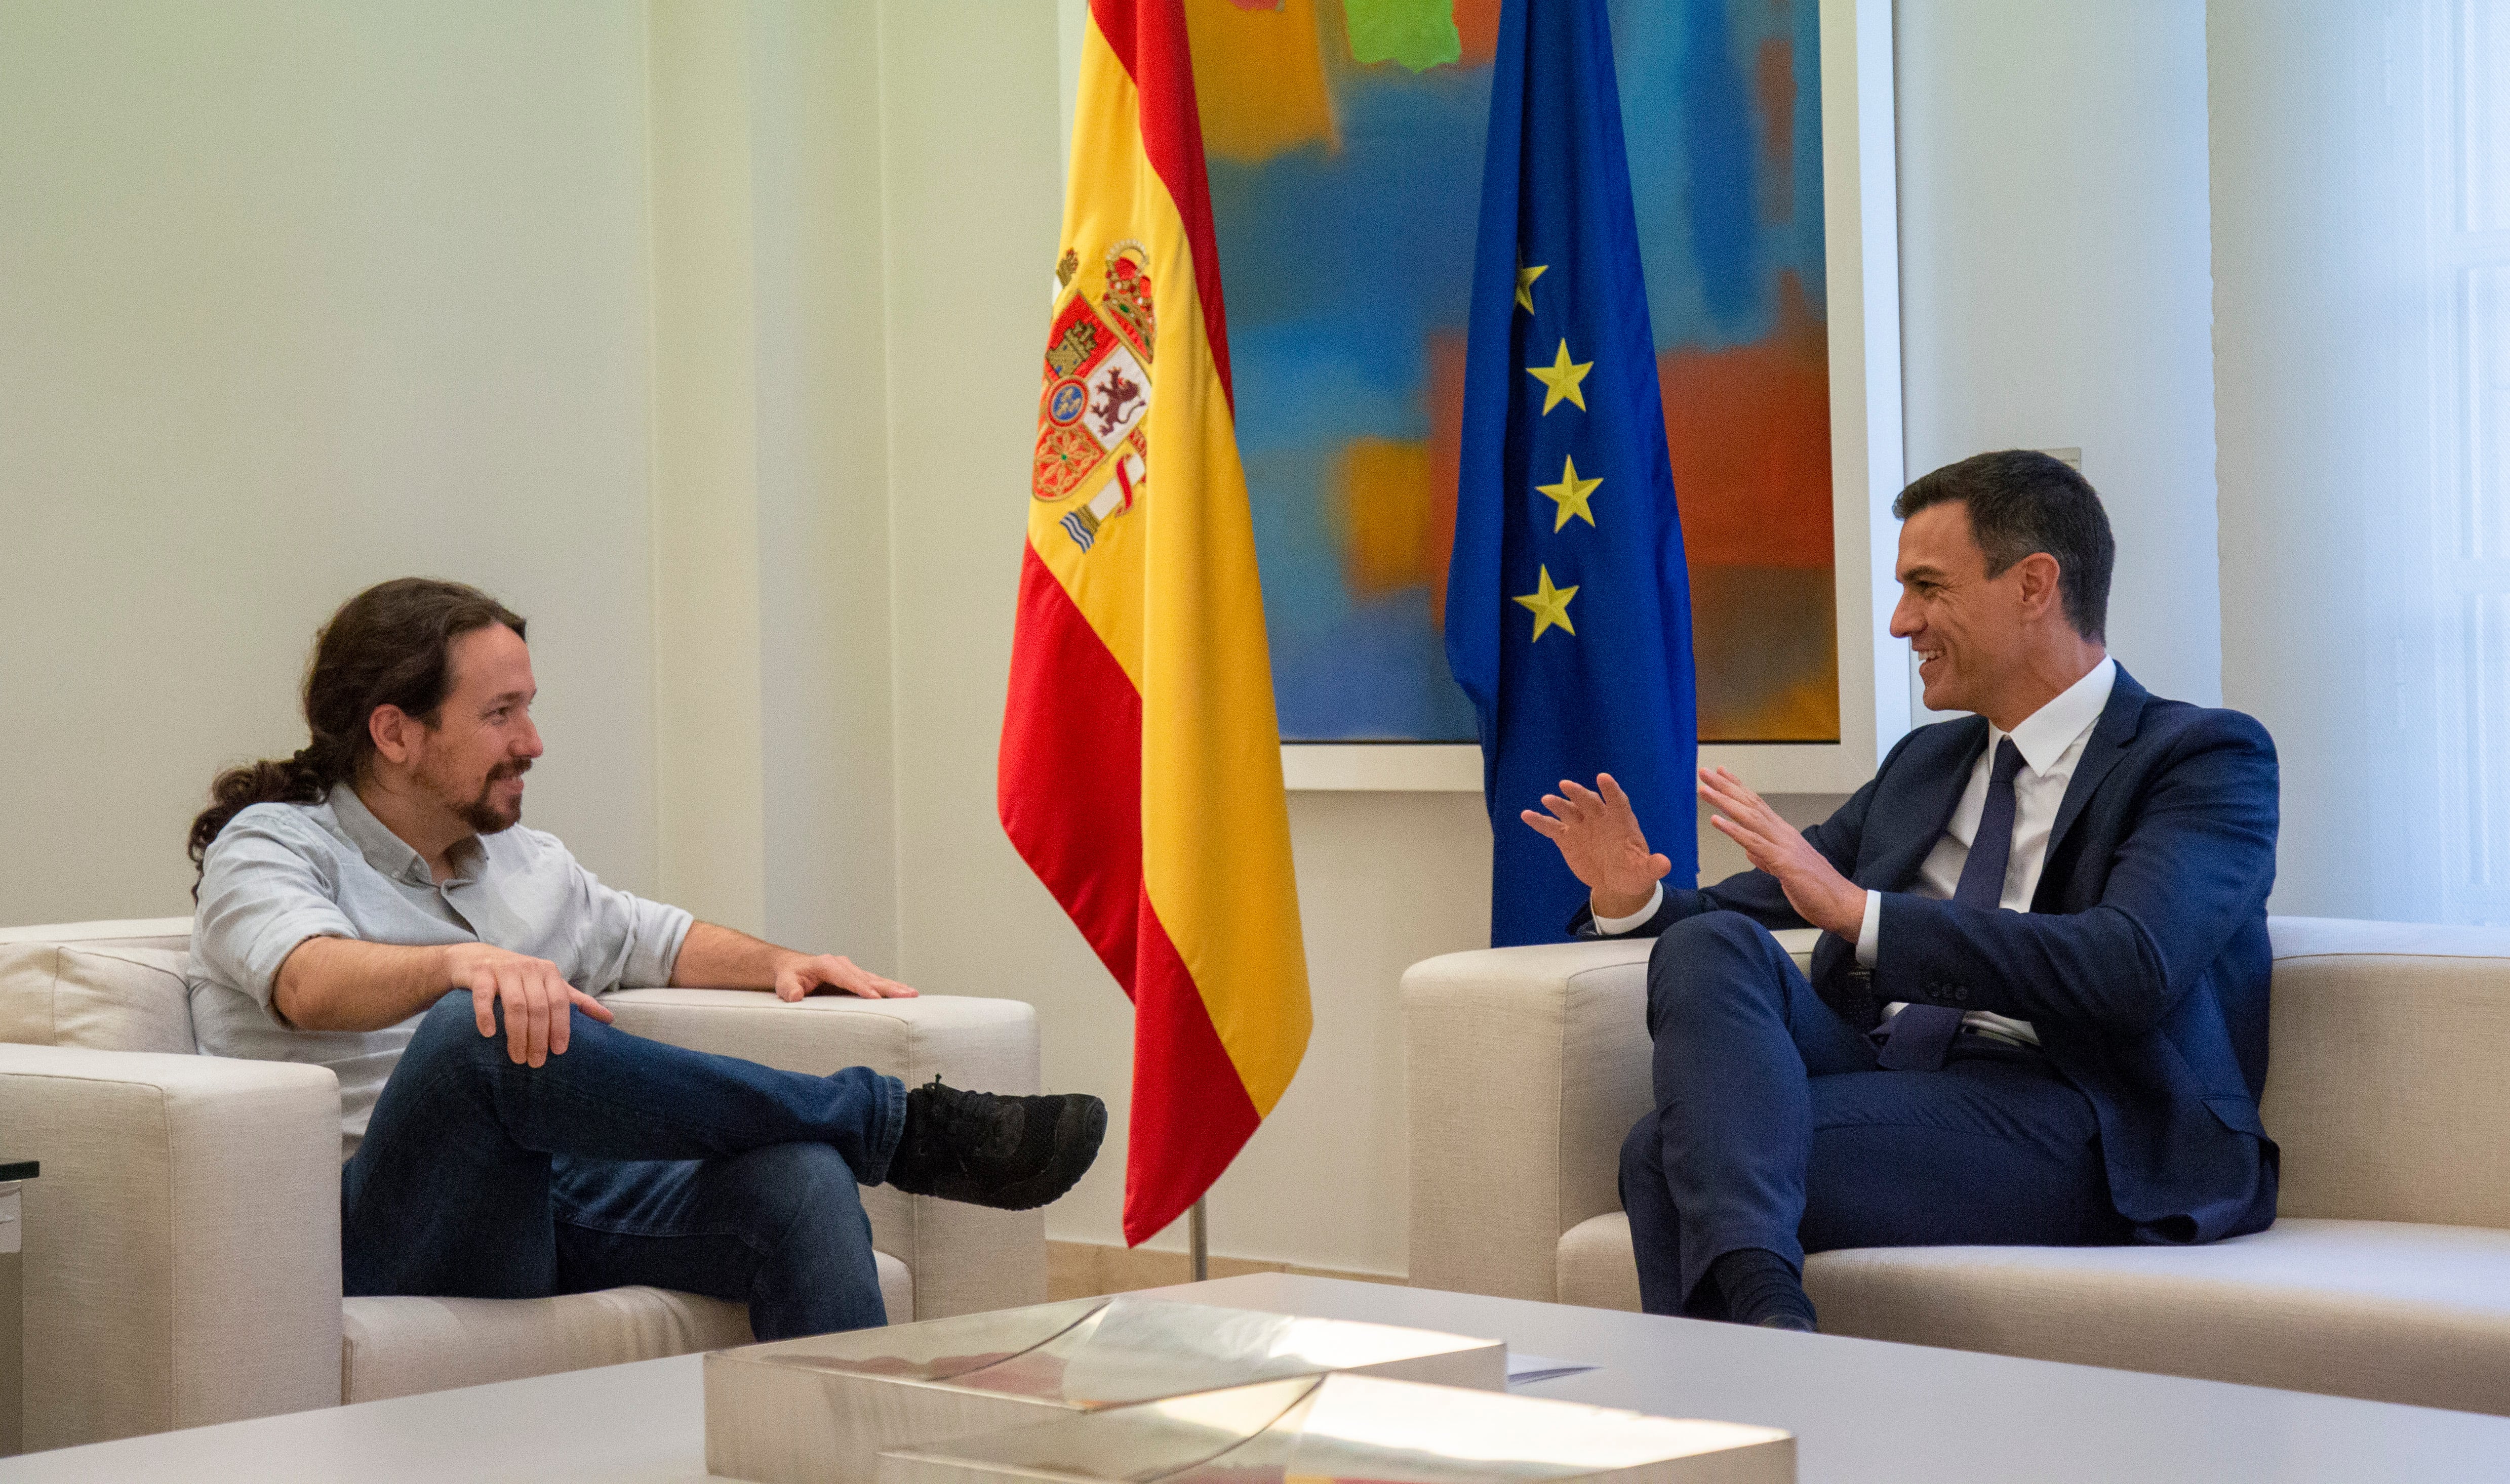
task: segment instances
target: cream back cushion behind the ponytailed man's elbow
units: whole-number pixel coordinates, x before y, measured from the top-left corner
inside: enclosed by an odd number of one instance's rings
[[[191,1055],[188,964],[181,939],[0,944],[0,1042]]]

